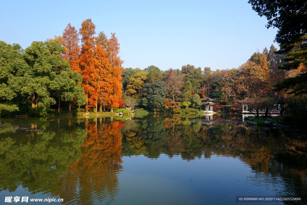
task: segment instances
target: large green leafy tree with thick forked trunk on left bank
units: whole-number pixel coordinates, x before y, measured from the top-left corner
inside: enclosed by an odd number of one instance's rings
[[[59,55],[64,52],[64,48],[53,43],[49,45],[50,42],[34,41],[26,48],[25,58],[29,69],[10,80],[15,92],[31,100],[32,108],[37,108],[38,102],[41,102],[43,109],[55,103],[50,97],[50,82],[60,69],[69,68],[69,63]]]

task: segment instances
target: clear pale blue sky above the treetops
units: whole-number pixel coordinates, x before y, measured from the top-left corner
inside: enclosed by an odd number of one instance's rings
[[[96,33],[116,34],[125,68],[237,68],[257,49],[269,49],[277,31],[266,29],[266,18],[247,0],[0,0],[0,5],[1,41],[25,49],[32,41],[62,35],[68,23],[79,29],[91,18]]]

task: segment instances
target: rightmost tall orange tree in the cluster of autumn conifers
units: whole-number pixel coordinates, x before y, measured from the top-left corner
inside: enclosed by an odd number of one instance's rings
[[[115,33],[111,33],[111,38],[109,39],[109,62],[110,62],[110,80],[111,93],[109,95],[109,105],[111,107],[111,112],[113,108],[119,107],[119,101],[122,97],[122,63],[119,54],[119,42]]]

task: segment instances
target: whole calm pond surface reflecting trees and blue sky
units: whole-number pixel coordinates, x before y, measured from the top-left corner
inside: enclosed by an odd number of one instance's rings
[[[27,204],[307,204],[305,134],[241,121],[0,119],[0,204],[9,196],[28,196]]]

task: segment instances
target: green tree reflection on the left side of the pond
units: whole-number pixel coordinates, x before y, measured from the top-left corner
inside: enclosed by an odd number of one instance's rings
[[[56,190],[60,185],[58,177],[80,158],[78,148],[86,131],[78,126],[56,128],[56,120],[17,124],[2,123],[0,191],[12,192],[19,185],[32,193]]]

